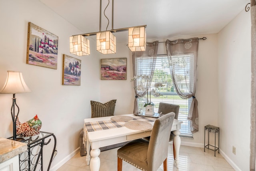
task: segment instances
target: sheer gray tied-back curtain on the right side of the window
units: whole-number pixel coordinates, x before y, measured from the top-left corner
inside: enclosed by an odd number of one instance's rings
[[[169,61],[172,82],[178,95],[182,99],[192,97],[188,120],[190,120],[191,132],[198,131],[198,101],[196,99],[196,66],[198,53],[198,38],[166,40],[166,51]],[[179,58],[178,56],[182,56]],[[186,56],[188,56],[186,58]],[[191,58],[192,57],[192,58]],[[189,66],[188,66],[189,65]],[[192,72],[188,70],[193,70]],[[185,82],[187,92],[182,92],[178,87],[179,82]]]

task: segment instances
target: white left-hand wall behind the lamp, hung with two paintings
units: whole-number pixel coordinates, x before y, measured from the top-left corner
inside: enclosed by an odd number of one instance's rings
[[[58,36],[57,70],[26,64],[28,22]],[[25,122],[37,114],[42,121],[41,131],[56,135],[58,154],[53,160],[54,166],[79,147],[83,119],[91,115],[90,99],[100,99],[100,64],[96,46],[91,47],[90,56],[70,54],[69,36],[82,32],[39,0],[1,0],[0,23],[0,88],[5,83],[7,70],[22,71],[32,92],[16,94],[19,119]],[[62,85],[63,54],[82,60],[80,86]],[[12,95],[0,94],[0,137],[12,136],[11,105]],[[46,156],[51,153],[51,149],[46,150],[48,146],[44,147]],[[45,162],[48,159],[44,157]],[[45,167],[46,164],[44,170]]]

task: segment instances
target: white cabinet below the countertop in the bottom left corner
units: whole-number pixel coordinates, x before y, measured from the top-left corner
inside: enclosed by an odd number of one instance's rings
[[[0,163],[0,171],[19,171],[19,155]]]

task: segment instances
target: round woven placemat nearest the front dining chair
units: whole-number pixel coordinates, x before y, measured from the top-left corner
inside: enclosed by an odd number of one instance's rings
[[[126,122],[124,126],[129,129],[137,130],[137,131],[146,131],[153,127],[151,123],[148,123],[145,121],[129,121],[129,122]]]

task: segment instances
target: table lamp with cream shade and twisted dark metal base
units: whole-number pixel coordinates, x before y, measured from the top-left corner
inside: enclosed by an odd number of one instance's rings
[[[0,90],[1,94],[13,94],[12,98],[12,107],[11,107],[11,115],[12,115],[12,128],[13,128],[13,140],[15,141],[24,141],[23,138],[17,138],[16,135],[16,121],[20,112],[20,108],[16,104],[16,93],[28,93],[31,90],[26,85],[22,72],[20,71],[7,71],[7,78],[4,84],[4,87]],[[18,113],[15,116],[15,106],[18,108]]]

